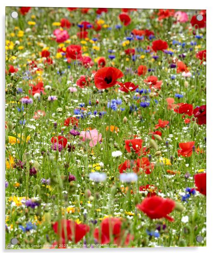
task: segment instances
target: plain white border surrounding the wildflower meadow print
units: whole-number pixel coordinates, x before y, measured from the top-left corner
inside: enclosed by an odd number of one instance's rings
[[[144,9],[194,9],[194,10],[207,10],[207,246],[206,247],[186,247],[186,248],[126,248],[126,249],[74,249],[71,250],[4,250],[5,248],[5,6],[40,6],[40,7],[109,7],[109,8],[144,8]],[[130,254],[147,254],[147,255],[193,255],[195,256],[202,254],[211,255],[213,251],[213,244],[215,244],[215,82],[213,74],[215,73],[215,3],[212,0],[204,1],[193,1],[193,0],[178,0],[178,1],[167,1],[167,0],[153,0],[153,1],[116,1],[116,0],[82,0],[71,1],[56,1],[51,0],[7,0],[1,1],[0,3],[0,29],[1,29],[1,51],[0,51],[0,70],[1,70],[1,83],[0,83],[0,163],[2,168],[0,169],[0,219],[1,219],[1,236],[0,248],[3,253],[14,254],[14,253],[64,253],[64,254],[117,254],[123,255]]]

